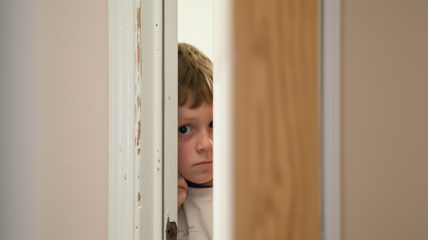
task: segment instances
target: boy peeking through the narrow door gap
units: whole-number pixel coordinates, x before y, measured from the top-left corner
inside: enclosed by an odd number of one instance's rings
[[[178,44],[178,240],[212,240],[212,63]]]

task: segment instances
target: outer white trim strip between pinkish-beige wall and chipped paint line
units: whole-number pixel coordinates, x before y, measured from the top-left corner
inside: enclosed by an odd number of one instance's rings
[[[137,5],[139,0],[108,1],[109,240],[134,239],[136,234]]]

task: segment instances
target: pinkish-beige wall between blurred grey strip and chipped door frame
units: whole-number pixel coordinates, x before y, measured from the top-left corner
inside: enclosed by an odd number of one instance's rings
[[[41,239],[107,239],[107,0],[43,0]]]

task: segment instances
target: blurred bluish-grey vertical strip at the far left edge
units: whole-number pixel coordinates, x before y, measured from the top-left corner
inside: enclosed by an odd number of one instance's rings
[[[34,2],[0,0],[0,239],[36,231]]]

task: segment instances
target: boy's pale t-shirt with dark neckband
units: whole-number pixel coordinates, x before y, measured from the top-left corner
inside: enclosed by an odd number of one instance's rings
[[[213,188],[188,187],[178,211],[177,240],[213,239]]]

